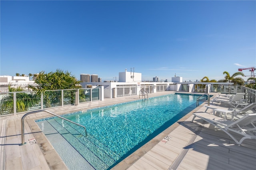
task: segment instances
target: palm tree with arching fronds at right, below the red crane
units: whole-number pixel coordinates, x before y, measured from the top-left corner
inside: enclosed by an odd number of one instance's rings
[[[237,77],[239,75],[244,76],[244,73],[239,71],[230,76],[230,73],[224,71],[223,74],[225,75],[225,79],[219,80],[218,82],[229,82],[234,83],[234,85],[244,85],[244,79],[242,79],[241,77]]]

